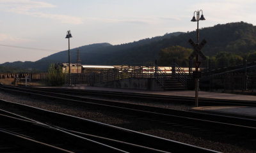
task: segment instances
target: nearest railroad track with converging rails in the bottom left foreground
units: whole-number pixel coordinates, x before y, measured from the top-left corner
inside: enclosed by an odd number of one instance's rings
[[[10,101],[0,100],[0,108],[0,129],[47,145],[48,150],[58,149],[51,152],[215,152]],[[0,135],[0,140],[8,137],[4,137],[1,130]],[[10,138],[10,142],[16,141],[22,142]],[[28,147],[23,143],[20,145]],[[31,146],[38,149],[34,144]]]

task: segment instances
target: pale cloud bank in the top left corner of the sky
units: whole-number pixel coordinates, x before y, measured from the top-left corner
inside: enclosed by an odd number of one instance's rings
[[[42,1],[31,0],[1,0],[0,8],[6,12],[12,12],[23,15],[30,15],[33,17],[49,18],[52,20],[59,20],[65,24],[83,24],[83,21],[79,17],[73,17],[70,15],[60,15],[52,13],[44,13],[39,11],[42,8],[56,8],[56,6],[45,3]]]

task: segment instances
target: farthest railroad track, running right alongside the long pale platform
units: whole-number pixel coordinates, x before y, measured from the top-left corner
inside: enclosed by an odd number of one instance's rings
[[[113,91],[92,91],[84,89],[65,89],[65,88],[39,88],[39,87],[24,87],[27,89],[35,89],[37,91],[55,92],[62,94],[70,94],[76,96],[100,96],[106,98],[118,99],[136,99],[141,101],[161,101],[166,103],[179,103],[186,105],[195,105],[195,98],[186,96],[167,96],[159,94],[145,94],[135,92],[113,92]],[[199,98],[200,106],[256,106],[256,101],[241,101],[228,99],[214,98]]]

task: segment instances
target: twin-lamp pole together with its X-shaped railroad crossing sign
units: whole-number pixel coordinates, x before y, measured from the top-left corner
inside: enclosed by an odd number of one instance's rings
[[[200,12],[202,12],[201,17]],[[195,17],[196,13],[196,17]],[[198,107],[198,89],[199,89],[199,78],[201,77],[201,72],[198,71],[198,68],[200,67],[201,62],[198,59],[198,55],[202,57],[202,59],[206,59],[205,55],[201,52],[202,47],[204,47],[206,41],[203,40],[202,43],[199,44],[199,20],[205,20],[204,15],[203,15],[203,10],[200,11],[194,11],[194,16],[191,20],[191,22],[197,22],[197,29],[196,29],[196,44],[189,39],[189,43],[194,49],[194,52],[189,56],[189,59],[193,59],[196,56],[196,61],[195,61],[195,67],[196,71],[193,71],[193,77],[195,78],[195,106]]]

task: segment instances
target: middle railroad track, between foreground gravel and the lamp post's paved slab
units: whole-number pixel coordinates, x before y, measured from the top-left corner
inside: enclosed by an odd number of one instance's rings
[[[34,88],[6,86],[0,87],[0,90],[29,94],[39,96],[41,98],[51,98],[68,105],[85,106],[86,108],[103,108],[104,110],[126,113],[128,115],[134,115],[134,117],[141,117],[145,120],[154,120],[164,124],[165,126],[181,124],[185,127],[206,129],[207,131],[211,131],[213,133],[220,133],[221,131],[223,134],[232,133],[235,136],[247,136],[246,138],[253,138],[256,133],[255,119],[243,119],[225,115],[172,110],[130,103],[117,103],[116,101],[83,98],[45,90],[41,91],[40,89]]]

